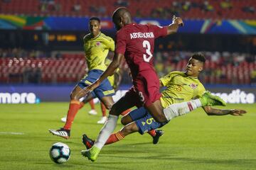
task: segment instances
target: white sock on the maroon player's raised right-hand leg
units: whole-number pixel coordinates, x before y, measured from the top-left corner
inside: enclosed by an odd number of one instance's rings
[[[171,120],[172,118],[189,113],[201,106],[202,104],[199,99],[188,102],[176,103],[170,105],[167,108],[164,108],[164,115],[166,116],[167,120]]]

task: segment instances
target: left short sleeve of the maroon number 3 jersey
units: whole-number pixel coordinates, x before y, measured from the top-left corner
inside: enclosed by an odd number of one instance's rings
[[[127,36],[123,31],[118,31],[116,36],[115,52],[124,55],[127,46]]]

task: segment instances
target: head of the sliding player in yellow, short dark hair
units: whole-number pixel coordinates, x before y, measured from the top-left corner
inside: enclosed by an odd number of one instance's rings
[[[196,53],[188,60],[186,67],[186,74],[190,77],[198,77],[199,73],[203,70],[203,64],[206,58],[201,53]]]

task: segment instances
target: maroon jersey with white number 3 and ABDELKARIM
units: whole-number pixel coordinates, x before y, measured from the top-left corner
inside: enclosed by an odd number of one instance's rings
[[[139,72],[154,70],[154,40],[167,35],[167,27],[131,23],[117,32],[115,52],[123,54],[133,79]]]

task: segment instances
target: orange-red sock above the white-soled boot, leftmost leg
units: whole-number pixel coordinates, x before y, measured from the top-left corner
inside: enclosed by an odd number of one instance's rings
[[[75,115],[78,113],[79,108],[80,108],[80,101],[76,101],[76,100],[70,101],[70,106],[69,106],[68,115],[67,115],[67,121],[63,127],[64,129],[70,130],[73,120],[75,118]]]

